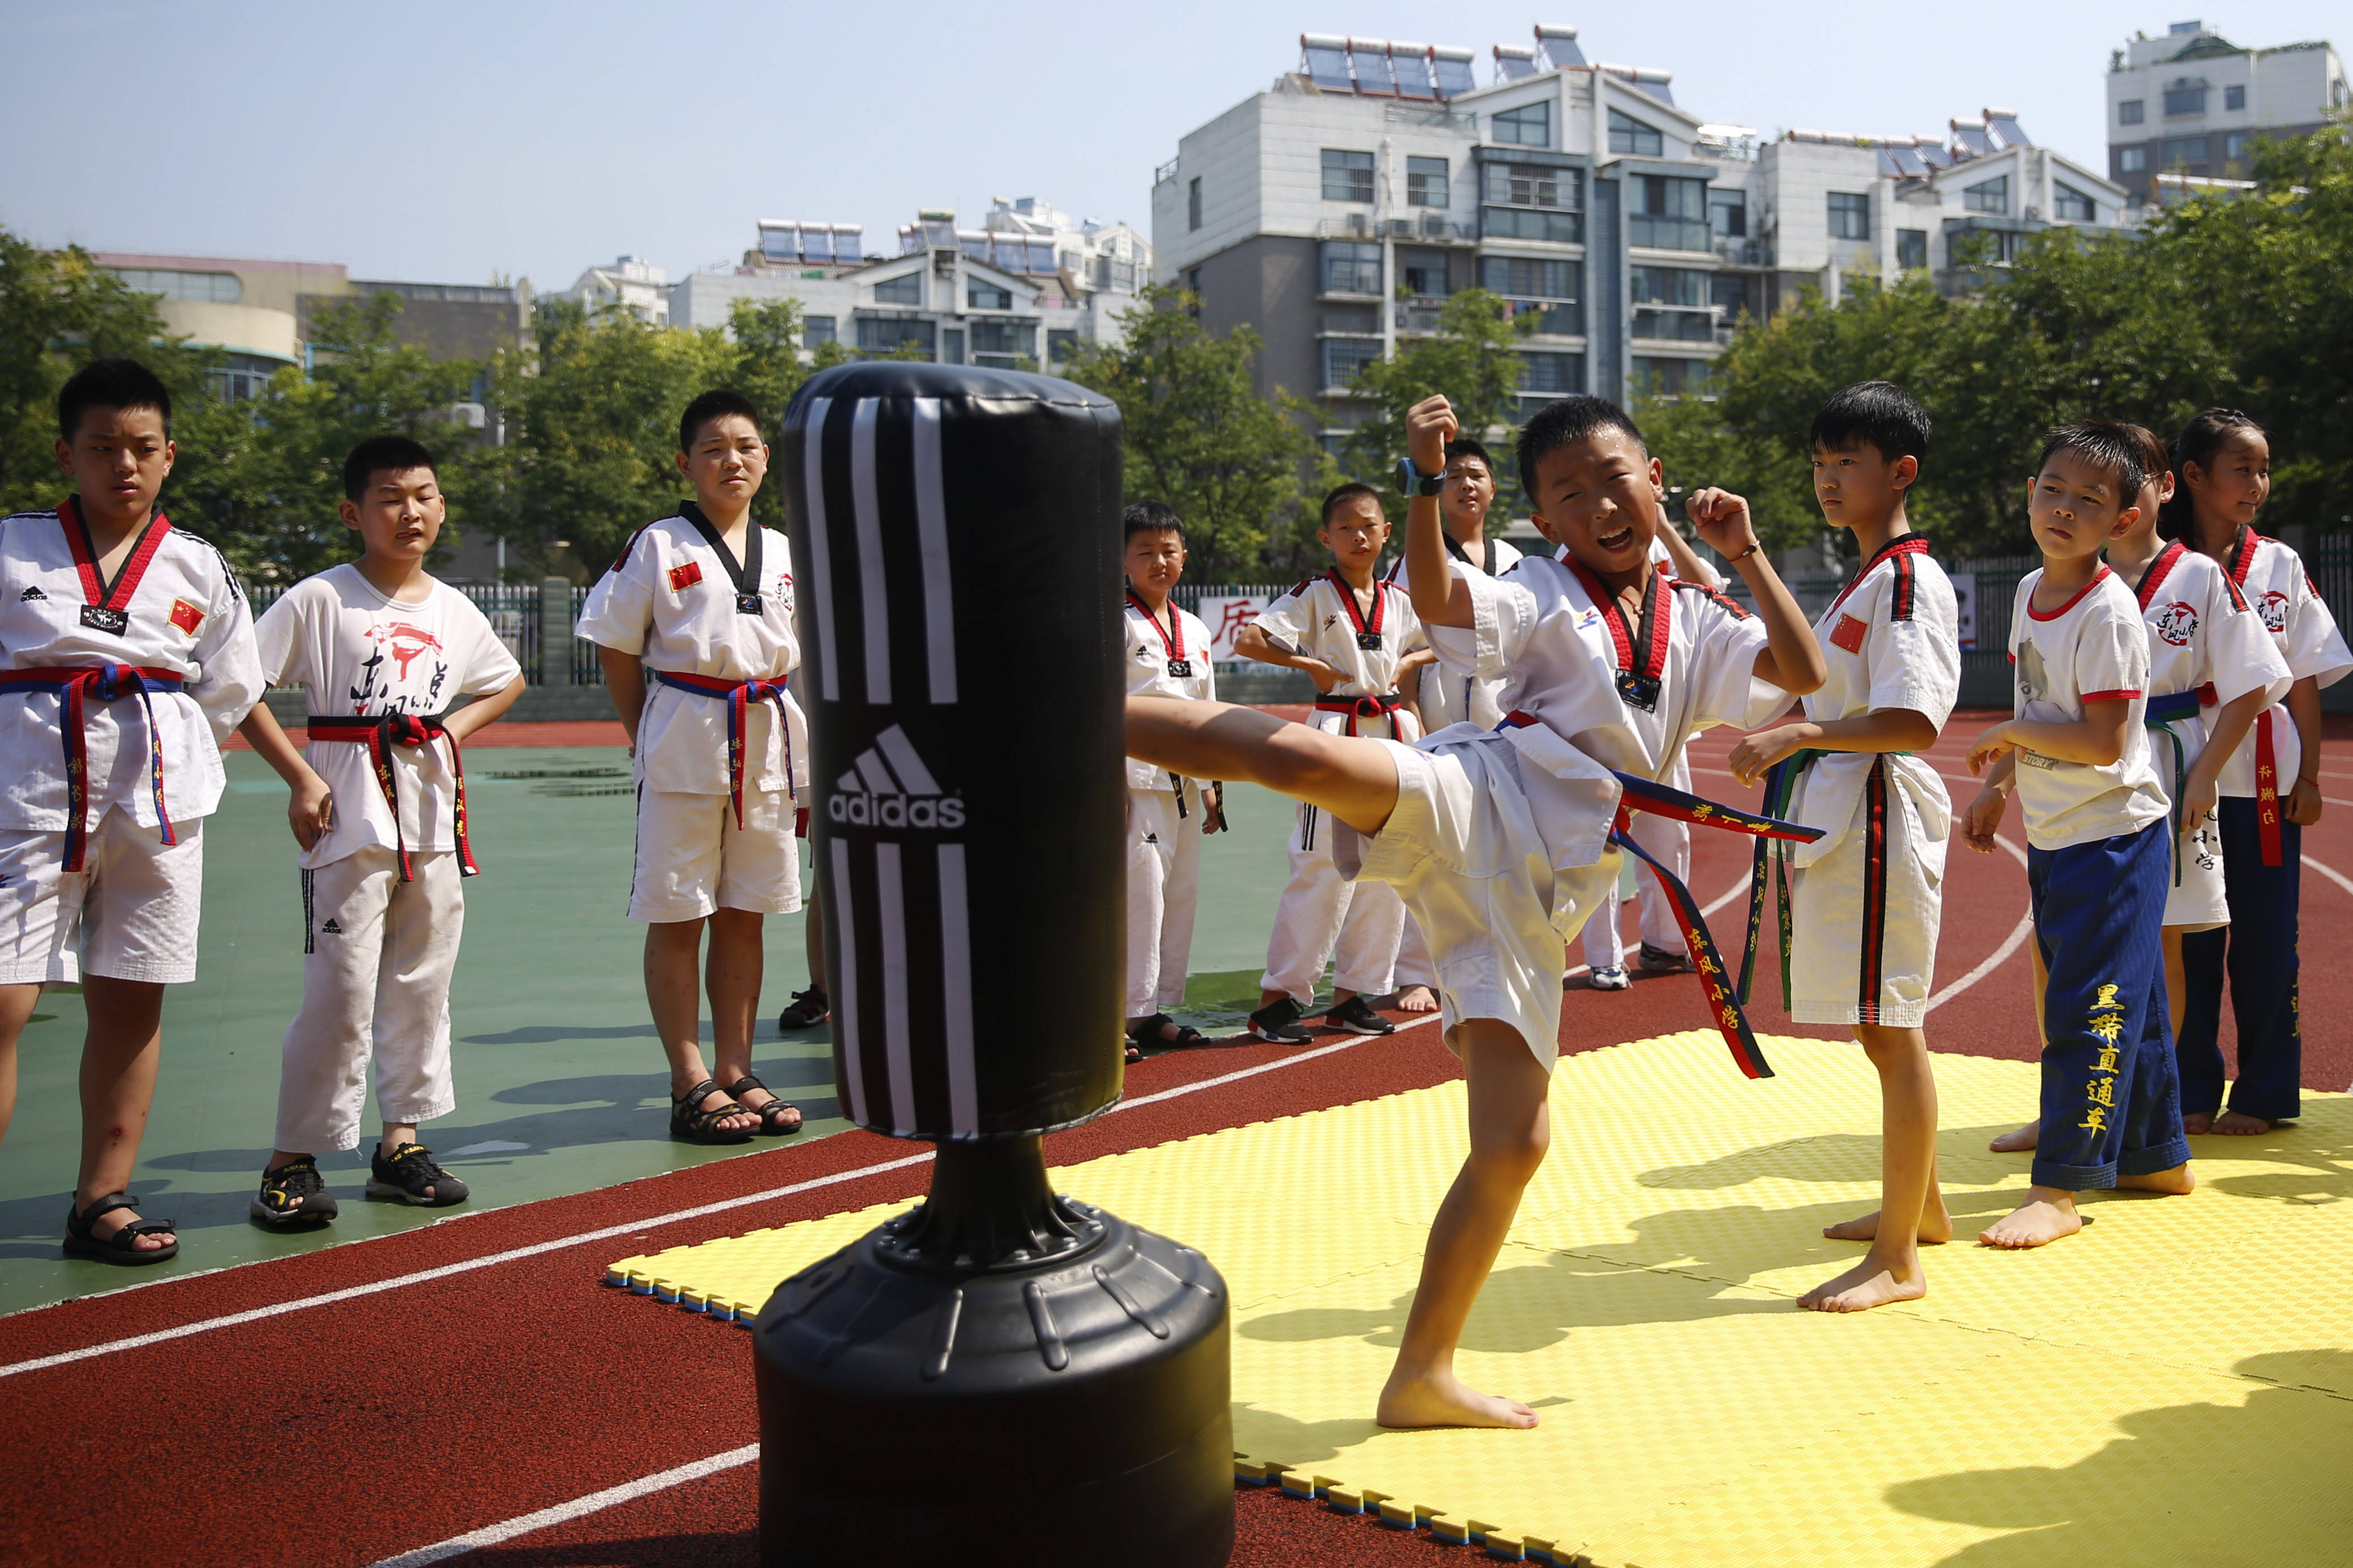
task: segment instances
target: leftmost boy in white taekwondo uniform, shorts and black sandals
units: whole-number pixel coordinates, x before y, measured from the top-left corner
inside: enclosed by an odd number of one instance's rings
[[[162,383],[99,360],[59,390],[56,428],[75,494],[0,522],[0,1131],[40,987],[80,980],[66,1253],[144,1265],[179,1253],[172,1222],[125,1194],[162,987],[195,978],[219,741],[261,696],[261,665],[221,552],[155,510],[176,451]]]

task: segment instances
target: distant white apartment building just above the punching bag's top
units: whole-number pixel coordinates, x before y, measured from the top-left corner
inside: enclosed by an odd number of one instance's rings
[[[887,259],[864,252],[856,226],[769,219],[744,266],[678,282],[668,320],[725,327],[739,299],[793,299],[812,350],[1052,369],[1078,341],[1115,343],[1148,275],[1151,244],[1134,228],[1071,219],[1035,197],[1000,197],[981,228],[927,209],[899,228]]]

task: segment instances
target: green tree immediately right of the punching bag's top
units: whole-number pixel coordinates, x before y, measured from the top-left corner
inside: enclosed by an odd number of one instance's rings
[[[1294,564],[1304,480],[1327,475],[1329,458],[1306,400],[1252,386],[1259,334],[1202,331],[1195,306],[1181,289],[1144,289],[1120,315],[1127,341],[1080,343],[1061,374],[1120,404],[1127,496],[1176,508],[1188,571],[1247,581]]]

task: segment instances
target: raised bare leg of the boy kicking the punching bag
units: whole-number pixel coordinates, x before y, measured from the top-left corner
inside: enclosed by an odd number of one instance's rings
[[[1398,764],[1369,736],[1327,736],[1254,708],[1127,698],[1127,755],[1186,778],[1245,778],[1381,832],[1398,809]]]

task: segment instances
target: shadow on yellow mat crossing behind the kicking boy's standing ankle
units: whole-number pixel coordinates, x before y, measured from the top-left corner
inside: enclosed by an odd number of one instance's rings
[[[1235,1333],[1273,1342],[1365,1340],[1395,1349],[1412,1305],[1414,1293],[1407,1291],[1386,1307],[1299,1307],[1249,1319]],[[1499,1267],[1487,1276],[1464,1326],[1461,1347],[1522,1354],[1558,1345],[1577,1328],[1680,1324],[1758,1312],[1786,1314],[1788,1302],[1715,1300],[1708,1286],[1694,1279],[1551,1253],[1544,1262]]]

